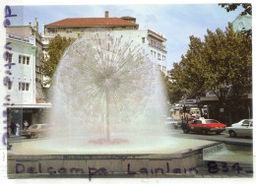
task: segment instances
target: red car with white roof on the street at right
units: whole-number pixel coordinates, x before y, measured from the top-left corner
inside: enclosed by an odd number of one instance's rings
[[[188,134],[189,132],[197,132],[201,134],[208,134],[209,132],[215,132],[221,134],[224,132],[226,125],[220,123],[215,119],[194,119],[191,123],[185,123],[182,127],[183,132]]]

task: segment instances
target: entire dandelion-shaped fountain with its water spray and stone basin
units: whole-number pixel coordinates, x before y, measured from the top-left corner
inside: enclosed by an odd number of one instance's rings
[[[64,53],[52,88],[50,137],[19,148],[14,144],[10,177],[31,176],[34,170],[74,175],[75,166],[83,168],[75,174],[89,176],[91,168],[119,175],[173,174],[170,170],[197,166],[202,149],[216,145],[164,135],[159,66],[127,37],[98,32],[76,40]]]

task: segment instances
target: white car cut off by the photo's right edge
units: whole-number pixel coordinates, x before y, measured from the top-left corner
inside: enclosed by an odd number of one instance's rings
[[[235,138],[236,136],[252,137],[252,124],[252,119],[246,119],[242,123],[236,123],[230,127],[226,127],[225,131],[229,134],[230,138]]]

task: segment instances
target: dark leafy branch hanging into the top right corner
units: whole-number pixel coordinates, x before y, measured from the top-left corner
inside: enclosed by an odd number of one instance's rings
[[[251,4],[249,3],[220,3],[219,6],[222,6],[226,10],[226,12],[234,11],[238,7],[242,7],[244,10],[241,12],[240,15],[252,15]]]

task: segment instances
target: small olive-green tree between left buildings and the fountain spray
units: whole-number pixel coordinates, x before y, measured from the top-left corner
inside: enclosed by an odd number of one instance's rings
[[[53,75],[57,69],[57,66],[60,62],[62,55],[68,46],[74,41],[74,39],[62,37],[57,34],[49,42],[48,53],[43,55],[41,54],[40,62],[42,74],[49,78],[45,84],[51,84]]]

